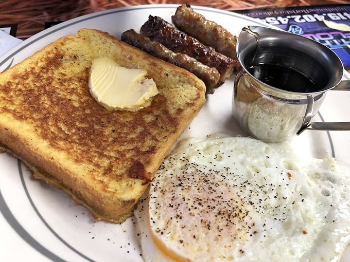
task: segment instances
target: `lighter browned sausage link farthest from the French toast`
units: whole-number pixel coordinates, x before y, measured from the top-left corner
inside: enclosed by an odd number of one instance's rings
[[[237,60],[237,37],[221,25],[195,12],[190,5],[179,6],[171,20],[176,27],[204,45],[212,46],[216,51]]]

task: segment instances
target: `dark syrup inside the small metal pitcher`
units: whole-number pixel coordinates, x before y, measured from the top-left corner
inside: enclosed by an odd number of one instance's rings
[[[308,93],[319,90],[305,74],[290,67],[261,63],[249,67],[248,71],[261,82],[286,91]]]

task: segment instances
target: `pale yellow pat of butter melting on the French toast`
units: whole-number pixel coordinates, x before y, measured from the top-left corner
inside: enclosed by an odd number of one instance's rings
[[[119,66],[112,59],[98,57],[92,61],[90,92],[107,109],[136,111],[151,104],[158,89],[147,71]]]

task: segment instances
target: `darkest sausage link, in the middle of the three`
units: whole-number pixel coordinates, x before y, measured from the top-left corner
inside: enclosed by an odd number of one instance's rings
[[[220,73],[221,83],[228,79],[234,70],[233,59],[216,52],[213,47],[202,44],[159,16],[150,15],[141,27],[141,34],[148,36],[152,41],[160,42],[174,52],[188,54],[204,65],[215,67]]]

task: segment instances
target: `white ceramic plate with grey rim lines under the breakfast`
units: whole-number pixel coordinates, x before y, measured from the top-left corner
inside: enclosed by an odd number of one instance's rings
[[[0,71],[18,63],[61,36],[80,28],[96,28],[120,38],[127,29],[138,30],[148,15],[171,21],[178,5],[120,8],[81,16],[44,30],[16,46],[0,60]],[[195,7],[233,34],[243,26],[265,25],[233,12]],[[268,25],[265,25],[268,26]],[[347,79],[350,79],[346,76]],[[215,132],[242,135],[231,115],[233,79],[209,95],[196,119],[181,138],[204,137]],[[350,92],[330,91],[317,115],[318,121],[350,120]],[[335,156],[342,164],[350,158],[350,132],[306,130],[289,141],[299,154]],[[134,220],[123,224],[94,223],[64,193],[42,181],[17,159],[0,155],[0,261],[142,261],[134,234]],[[350,259],[349,249],[343,261]]]

